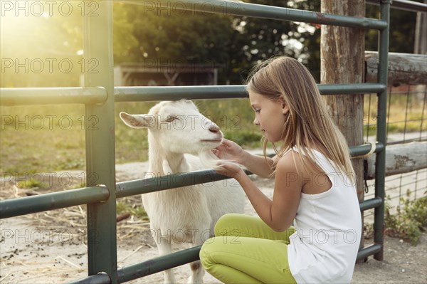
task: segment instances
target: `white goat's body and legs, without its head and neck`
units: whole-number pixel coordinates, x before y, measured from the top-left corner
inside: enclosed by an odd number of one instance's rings
[[[199,157],[191,154],[182,155],[180,161],[179,166],[186,169],[185,172],[206,168]],[[147,176],[164,176],[163,182],[169,183],[174,180],[165,175],[180,172],[183,171],[166,172],[159,169],[159,163],[150,163]],[[142,204],[150,219],[152,237],[163,256],[172,253],[172,243],[199,246],[214,236],[215,223],[221,216],[243,212],[244,193],[235,181],[224,180],[143,194]],[[202,283],[204,270],[201,263],[191,263],[191,270],[189,283]],[[173,270],[165,270],[164,283],[175,282]]]

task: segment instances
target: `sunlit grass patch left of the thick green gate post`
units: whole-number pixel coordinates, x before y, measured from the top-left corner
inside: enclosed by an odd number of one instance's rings
[[[1,174],[85,167],[82,106],[0,107],[0,112]]]

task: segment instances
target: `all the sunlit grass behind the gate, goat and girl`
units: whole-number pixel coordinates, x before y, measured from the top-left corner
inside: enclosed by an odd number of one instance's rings
[[[365,96],[365,117],[370,117],[369,123],[374,123],[372,117],[376,117],[376,96],[371,96],[370,113],[367,113],[368,98]],[[116,163],[146,161],[148,158],[147,130],[125,126],[119,118],[119,112],[147,113],[155,103],[115,104]],[[221,127],[226,138],[243,147],[260,147],[262,136],[258,127],[253,125],[253,110],[247,99],[200,100],[196,101],[196,105],[206,117]],[[404,120],[405,107],[406,97],[392,100],[390,122]],[[83,105],[0,107],[0,115],[2,175],[85,168],[85,127],[90,127],[95,121],[84,117]],[[407,122],[406,131],[420,131],[422,115],[422,104],[410,102],[408,120],[416,121]],[[365,124],[367,122],[364,121]],[[404,127],[404,122],[392,123],[389,125],[389,133],[403,132]],[[370,135],[374,135],[375,128],[371,126]],[[425,122],[423,130],[426,130]]]

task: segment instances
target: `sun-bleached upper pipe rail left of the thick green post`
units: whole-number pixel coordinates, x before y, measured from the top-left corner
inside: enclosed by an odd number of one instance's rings
[[[97,104],[107,100],[102,87],[0,88],[0,105]]]

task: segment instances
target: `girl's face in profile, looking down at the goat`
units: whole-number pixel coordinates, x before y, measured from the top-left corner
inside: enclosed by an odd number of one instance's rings
[[[289,112],[283,98],[270,100],[258,93],[249,92],[249,100],[255,111],[254,125],[258,125],[265,138],[270,142],[282,140],[285,115]]]

